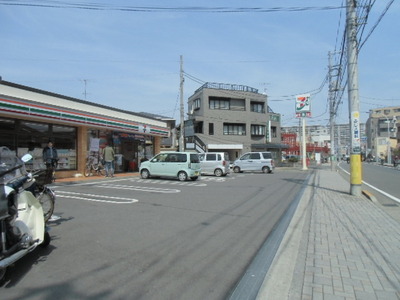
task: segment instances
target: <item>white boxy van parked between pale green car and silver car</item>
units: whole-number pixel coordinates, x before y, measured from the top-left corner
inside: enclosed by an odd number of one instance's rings
[[[226,152],[200,153],[201,174],[226,176],[230,172],[229,156]]]

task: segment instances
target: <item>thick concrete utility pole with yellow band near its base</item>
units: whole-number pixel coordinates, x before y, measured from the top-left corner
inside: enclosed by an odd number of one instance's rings
[[[361,130],[360,103],[358,96],[358,45],[356,0],[347,0],[346,37],[347,37],[347,81],[350,119],[350,194],[361,196]]]

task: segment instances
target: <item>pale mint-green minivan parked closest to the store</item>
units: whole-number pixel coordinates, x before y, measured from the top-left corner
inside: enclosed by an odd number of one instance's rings
[[[147,179],[156,177],[177,177],[180,181],[196,180],[201,172],[199,156],[193,152],[160,153],[141,163],[140,176]]]

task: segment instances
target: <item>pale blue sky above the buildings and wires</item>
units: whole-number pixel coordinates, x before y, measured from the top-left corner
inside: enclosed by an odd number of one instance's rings
[[[390,2],[374,3],[361,38],[362,122],[370,109],[400,105],[400,1],[394,1],[378,22]],[[187,99],[205,82],[230,83],[266,93],[270,108],[282,114],[282,126],[298,125],[295,96],[311,91],[312,117],[307,125],[327,125],[328,53],[335,53],[332,65],[337,64],[346,16],[340,7],[345,4],[0,0],[0,76],[93,103],[179,120],[182,56],[186,112]],[[349,122],[347,91],[341,101],[338,124]]]

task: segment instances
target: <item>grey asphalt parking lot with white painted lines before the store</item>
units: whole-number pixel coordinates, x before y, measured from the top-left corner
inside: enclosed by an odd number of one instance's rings
[[[2,299],[225,299],[308,172],[57,185],[52,243]]]

